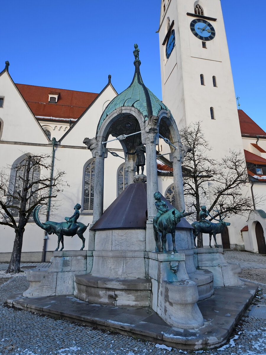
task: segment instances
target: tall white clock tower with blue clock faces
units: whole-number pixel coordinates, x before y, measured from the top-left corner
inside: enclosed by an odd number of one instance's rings
[[[243,150],[220,0],[162,0],[162,100],[180,129],[201,121],[221,158]]]

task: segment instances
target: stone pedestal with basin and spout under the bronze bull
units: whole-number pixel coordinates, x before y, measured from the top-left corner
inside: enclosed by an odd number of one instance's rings
[[[196,302],[198,288],[189,279],[185,254],[146,252],[148,275],[152,283],[151,306],[168,324],[182,329],[203,326]]]

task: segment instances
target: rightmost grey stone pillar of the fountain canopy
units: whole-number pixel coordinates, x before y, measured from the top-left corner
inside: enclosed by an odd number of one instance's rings
[[[178,143],[174,143],[174,145],[178,147]],[[170,161],[173,163],[174,200],[176,209],[182,212],[185,209],[185,200],[179,148],[170,153]]]

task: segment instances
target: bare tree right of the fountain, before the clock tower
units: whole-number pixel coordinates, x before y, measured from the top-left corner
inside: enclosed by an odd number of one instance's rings
[[[196,220],[199,220],[200,207],[208,204],[213,217],[217,211],[227,217],[244,215],[254,210],[253,200],[247,191],[248,174],[246,163],[241,151],[229,151],[221,162],[211,159],[211,150],[200,127],[195,122],[180,130],[183,144],[190,146],[192,151],[184,158],[183,176],[184,195],[187,197],[187,209],[194,209]],[[203,247],[202,235],[198,237],[198,247]]]

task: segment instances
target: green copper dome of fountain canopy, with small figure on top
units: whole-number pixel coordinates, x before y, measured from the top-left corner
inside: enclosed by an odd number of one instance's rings
[[[97,132],[106,117],[118,107],[134,107],[142,113],[145,120],[148,120],[151,115],[157,116],[162,109],[168,110],[161,100],[159,100],[143,83],[139,70],[141,62],[138,59],[138,55],[135,54],[135,51],[138,50],[137,47],[135,47],[135,50],[133,51],[135,55],[135,73],[132,83],[107,105],[98,123]]]

